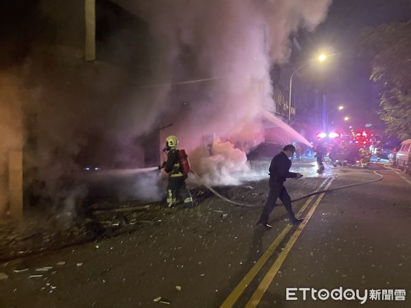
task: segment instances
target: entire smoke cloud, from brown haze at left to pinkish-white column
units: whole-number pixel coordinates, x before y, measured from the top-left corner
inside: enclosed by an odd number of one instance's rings
[[[142,167],[136,164],[147,158],[141,138],[162,125],[167,128],[160,139],[177,135],[205,181],[238,183],[233,175],[249,168],[245,152],[264,138],[262,112],[273,110],[271,65],[288,60],[290,35],[300,27],[314,29],[330,1],[115,0],[147,25],[147,40],[135,38],[146,55],[133,55],[138,49],[127,44],[110,47],[116,60],[147,62],[140,73],[108,62],[85,64],[82,48],[58,39],[53,48],[40,43],[78,17],[55,14],[61,13],[60,2],[40,1],[35,13],[27,12],[41,15],[44,24],[36,31],[41,40],[30,40],[18,77],[1,76],[8,90],[0,92],[1,103],[16,97],[14,92],[24,97],[25,181],[32,194],[56,210],[71,211],[75,199],[86,194],[79,185],[84,164]],[[63,20],[54,21],[59,16]],[[70,39],[75,29],[66,30]],[[82,40],[82,31],[78,36]],[[123,33],[113,36],[124,42]],[[10,125],[2,118],[2,136],[21,118],[9,118]],[[130,190],[147,186],[136,185]],[[149,197],[156,192],[149,190]]]

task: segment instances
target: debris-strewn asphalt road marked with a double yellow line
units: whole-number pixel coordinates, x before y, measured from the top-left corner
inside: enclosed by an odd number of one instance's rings
[[[318,176],[310,162],[295,169],[308,177],[287,182],[293,197],[377,177],[359,168]],[[0,265],[9,276],[0,307],[411,307],[411,179],[382,173],[293,204],[305,218],[299,227],[277,207],[273,229],[256,228],[261,207],[216,197],[195,209],[153,209],[156,223],[132,233]],[[225,190],[256,206],[267,192],[265,180]],[[38,271],[45,266],[53,268]],[[301,291],[286,300],[286,288],[301,287],[388,290],[386,299],[393,290],[393,300],[303,300]]]

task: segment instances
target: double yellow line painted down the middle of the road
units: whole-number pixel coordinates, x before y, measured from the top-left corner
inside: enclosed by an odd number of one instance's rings
[[[329,179],[330,178],[325,179],[323,181],[323,183],[321,183],[319,185],[317,190],[320,190],[323,187],[323,185],[325,183],[327,183],[327,181]],[[334,181],[334,179],[331,179],[331,181],[329,181],[327,183],[327,185],[325,185],[325,190],[327,190],[327,188],[329,188],[329,185],[331,185],[332,181]],[[312,205],[312,207],[311,207],[310,211],[308,212],[307,216],[304,218],[304,221],[301,222],[301,224],[299,225],[297,230],[291,235],[291,238],[290,238],[290,240],[288,240],[284,250],[282,251],[282,253],[279,254],[279,256],[277,257],[277,260],[274,262],[273,266],[271,266],[269,271],[266,273],[264,279],[262,279],[260,285],[258,285],[257,290],[253,293],[253,296],[251,296],[251,298],[249,299],[249,302],[246,305],[247,308],[256,307],[258,305],[258,303],[260,303],[260,300],[261,300],[262,296],[264,295],[267,288],[271,284],[271,281],[273,281],[275,275],[277,274],[277,272],[279,270],[279,267],[283,264],[283,262],[286,259],[288,253],[290,252],[290,249],[295,244],[295,242],[297,241],[297,238],[301,234],[301,231],[303,231],[304,227],[306,227],[306,224],[307,224],[308,220],[310,220],[312,214],[314,213],[316,207],[321,202],[321,199],[323,198],[323,196],[324,196],[324,194],[320,194],[319,198],[317,198],[316,202],[314,203],[314,205]],[[305,211],[307,209],[308,205],[310,205],[310,203],[312,202],[312,200],[314,198],[315,198],[315,196],[310,196],[310,198],[308,198],[306,203],[304,203],[304,205],[298,211],[297,216],[300,216],[303,213],[303,211]],[[290,229],[292,229],[291,224],[287,224],[286,227],[283,229],[283,231],[281,233],[279,233],[277,238],[271,243],[269,248],[260,257],[260,259],[258,259],[256,264],[253,265],[251,270],[249,270],[249,272],[247,272],[245,277],[241,279],[240,283],[238,283],[238,285],[234,288],[234,290],[224,300],[224,302],[221,304],[220,308],[233,307],[233,305],[236,303],[238,298],[240,298],[241,294],[248,287],[249,283],[251,283],[251,281],[253,281],[253,279],[256,277],[258,272],[260,272],[261,268],[264,266],[264,264],[266,264],[266,262],[269,260],[271,255],[273,255],[273,253],[275,252],[275,250],[277,249],[279,244],[282,243],[282,241],[284,240],[286,235],[290,232]]]

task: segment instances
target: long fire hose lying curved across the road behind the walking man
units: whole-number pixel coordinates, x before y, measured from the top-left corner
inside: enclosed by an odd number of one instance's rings
[[[384,170],[384,171],[388,171],[388,172],[391,171],[391,172],[393,172],[393,171],[399,170],[399,169],[395,169],[395,168],[392,168],[392,167],[388,167],[388,166],[386,166],[386,165],[383,165],[383,166],[384,166],[384,168],[390,169],[390,170]],[[346,168],[347,168],[347,167],[346,167]],[[382,170],[379,170],[379,171],[382,171]],[[213,194],[215,194],[216,196],[218,196],[218,197],[221,198],[222,200],[227,201],[228,203],[232,203],[232,204],[238,205],[238,206],[240,206],[240,207],[264,207],[264,205],[249,205],[249,204],[247,204],[247,203],[240,203],[240,202],[237,202],[237,201],[230,200],[229,198],[223,196],[222,194],[220,194],[219,192],[217,192],[216,190],[214,190],[214,188],[210,187],[209,185],[207,185],[206,183],[204,183],[203,181],[201,181],[201,178],[200,178],[194,171],[191,170],[190,172],[192,172],[192,174],[195,175],[195,177],[196,177],[197,180],[201,183],[201,185],[203,185],[205,188],[207,188],[208,190],[210,190],[210,192],[212,192]],[[336,188],[329,188],[329,189],[326,189],[326,190],[316,190],[316,191],[314,191],[314,192],[311,192],[310,194],[306,194],[306,195],[301,196],[301,197],[299,197],[299,198],[292,199],[291,202],[297,202],[297,201],[300,201],[300,200],[309,198],[310,196],[314,196],[314,195],[316,195],[316,194],[335,192],[335,191],[337,191],[337,190],[343,190],[343,189],[351,188],[351,187],[354,187],[354,186],[360,186],[360,185],[366,185],[366,184],[370,184],[370,183],[375,183],[375,182],[377,182],[377,181],[382,181],[382,179],[384,179],[384,175],[382,175],[381,173],[379,173],[378,170],[374,170],[373,173],[378,176],[377,179],[371,179],[371,180],[369,180],[369,181],[362,181],[362,182],[357,182],[357,183],[351,183],[351,184],[348,184],[348,185],[338,186],[338,187],[336,187]]]

